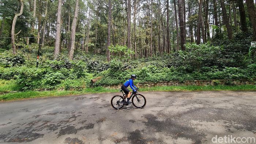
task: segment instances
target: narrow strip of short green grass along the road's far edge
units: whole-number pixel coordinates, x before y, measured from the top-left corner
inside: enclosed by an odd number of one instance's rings
[[[148,88],[140,88],[140,91],[219,91],[219,90],[256,90],[256,85],[241,85],[241,86],[156,86]],[[81,91],[25,91],[15,92],[0,95],[0,101],[10,101],[26,98],[39,98],[49,96],[65,96],[65,95],[79,95],[92,93],[110,93],[118,92],[118,89],[94,87],[84,88]]]

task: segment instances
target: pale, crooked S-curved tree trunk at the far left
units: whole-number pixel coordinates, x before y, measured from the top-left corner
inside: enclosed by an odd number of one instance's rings
[[[17,22],[18,17],[23,14],[23,8],[24,8],[23,0],[20,0],[20,3],[21,3],[20,12],[19,12],[19,14],[15,14],[14,19],[13,19],[13,21],[12,21],[12,30],[11,30],[12,54],[16,54],[16,45],[15,45],[15,39],[14,39],[14,35],[15,35],[15,25],[16,25],[16,22]]]

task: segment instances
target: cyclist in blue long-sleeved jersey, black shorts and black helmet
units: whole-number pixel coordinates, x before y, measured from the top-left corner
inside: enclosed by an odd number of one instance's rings
[[[129,91],[128,90],[128,86],[130,86],[131,88],[132,88],[132,90],[134,91],[134,92],[136,92],[136,90],[138,89],[137,87],[135,87],[134,86],[134,84],[133,84],[133,80],[135,80],[136,79],[136,75],[134,75],[134,74],[132,74],[131,75],[131,78],[130,79],[128,79],[122,86],[121,86],[121,89],[124,91],[124,93],[125,93],[125,96],[124,96],[124,102],[125,102],[125,99],[127,98],[127,103],[131,103],[130,102],[130,96],[131,96],[131,91]],[[135,88],[135,89],[134,89]]]

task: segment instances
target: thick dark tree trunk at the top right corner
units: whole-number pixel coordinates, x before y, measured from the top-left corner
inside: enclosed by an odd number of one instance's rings
[[[256,41],[256,9],[253,0],[246,0],[246,5],[248,8],[248,13],[251,18],[252,22],[252,29],[253,29],[253,41]]]

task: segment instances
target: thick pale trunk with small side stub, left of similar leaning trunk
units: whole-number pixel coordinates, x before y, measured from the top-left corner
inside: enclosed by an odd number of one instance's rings
[[[56,33],[56,41],[54,46],[54,59],[58,58],[60,53],[60,36],[61,36],[61,5],[62,0],[59,0],[58,4],[58,13],[57,13],[57,33]],[[52,34],[53,35],[53,34]]]

